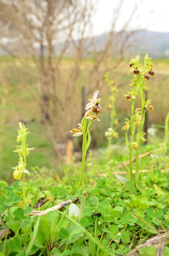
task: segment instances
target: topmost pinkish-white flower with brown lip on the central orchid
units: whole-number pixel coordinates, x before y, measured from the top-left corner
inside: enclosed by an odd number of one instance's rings
[[[94,94],[93,94],[93,99],[88,99],[89,101],[91,101],[91,102],[89,102],[87,105],[86,105],[86,107],[85,107],[85,109],[87,110],[87,112],[85,113],[85,116],[87,116],[87,114],[89,113],[89,112],[94,112],[96,115],[99,115],[99,113],[100,113],[100,109],[101,109],[101,107],[100,107],[100,98],[99,99],[97,99],[97,96],[98,96],[98,93],[99,93],[99,91],[96,91]],[[91,109],[92,108],[92,109]]]

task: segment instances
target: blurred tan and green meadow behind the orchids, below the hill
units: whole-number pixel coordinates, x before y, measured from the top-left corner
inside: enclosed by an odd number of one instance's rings
[[[134,57],[134,56],[133,56]],[[31,63],[31,59],[27,58]],[[90,65],[92,65],[92,58],[84,58],[80,64],[80,70],[78,74],[78,93],[73,95],[73,99],[77,102],[77,106],[73,109],[69,108],[69,103],[66,104],[66,115],[76,113],[77,119],[80,120],[84,109],[82,109],[82,87],[85,85],[86,91],[91,91],[87,84],[87,77],[90,75]],[[119,147],[125,147],[124,132],[121,131],[121,127],[124,124],[124,118],[128,117],[130,111],[130,101],[125,100],[124,93],[126,93],[130,87],[130,81],[133,77],[129,72],[129,60],[125,59],[120,62],[118,67],[115,67],[118,59],[112,59],[109,63],[107,70],[110,72],[110,77],[114,80],[118,92],[115,93],[115,108],[117,118],[119,119],[119,125],[116,127],[116,131],[119,132],[119,139],[114,139],[113,144],[119,145]],[[35,147],[35,150],[30,152],[31,157],[28,159],[29,166],[45,167],[48,170],[51,169],[57,172],[59,175],[63,175],[62,163],[58,159],[53,144],[46,136],[46,128],[43,122],[40,120],[40,108],[32,98],[32,92],[34,85],[32,83],[32,77],[27,76],[25,79],[22,65],[18,65],[19,60],[15,60],[9,56],[0,57],[1,65],[1,97],[4,97],[4,90],[6,89],[6,95],[1,101],[1,179],[5,179],[9,182],[12,181],[12,167],[15,166],[17,161],[16,154],[13,153],[15,150],[16,142],[16,130],[18,129],[18,122],[24,122],[26,127],[29,128],[29,146]],[[143,64],[143,59],[141,59]],[[164,125],[165,117],[168,113],[168,99],[169,99],[169,61],[168,59],[153,59],[155,75],[148,81],[147,90],[148,98],[152,99],[154,111],[148,113],[147,128],[151,127],[152,124]],[[66,58],[62,61],[61,72],[63,74],[71,71],[73,67],[72,58]],[[104,66],[104,62],[102,64]],[[16,71],[17,70],[17,71]],[[16,71],[16,72],[15,72]],[[33,67],[33,72],[36,73],[36,67]],[[103,77],[99,80],[99,95],[102,99],[102,109],[100,112],[100,123],[93,124],[92,127],[92,142],[90,149],[96,151],[96,149],[106,148],[107,140],[104,136],[105,131],[110,126],[109,116],[110,109],[108,109],[107,100],[109,98],[110,89],[107,83],[103,82]],[[60,84],[62,87],[62,84]],[[66,85],[65,85],[66,86]],[[88,93],[87,93],[88,95]],[[89,94],[90,95],[90,94]],[[88,99],[87,96],[86,99]],[[139,99],[139,96],[138,96]],[[139,100],[136,102],[136,108],[139,108]],[[4,122],[4,124],[3,124]],[[4,126],[3,126],[4,125]],[[76,127],[76,123],[75,123]],[[156,143],[151,143],[151,137],[148,138],[147,151],[149,148],[158,147],[158,141],[164,136],[164,129],[156,127]],[[54,132],[59,134],[57,128],[54,128]],[[69,130],[65,131],[69,136]],[[80,138],[74,138],[75,151],[79,152]],[[57,144],[57,143],[56,143]],[[61,145],[61,146],[60,146]],[[61,147],[62,155],[66,154],[65,146],[66,141],[58,140],[58,147]],[[63,149],[62,149],[63,148]],[[104,150],[103,150],[104,151]],[[116,151],[116,150],[115,150]],[[140,150],[146,151],[145,149]],[[105,149],[106,152],[106,149]],[[125,152],[125,150],[124,150]],[[115,155],[114,155],[115,154]],[[118,161],[118,158],[127,160],[127,152],[117,155],[115,152],[112,154],[112,158]],[[96,154],[94,154],[96,155]],[[76,153],[75,153],[76,157]],[[149,158],[149,157],[148,157]],[[77,161],[79,158],[77,157]],[[103,157],[104,161],[104,157]],[[144,160],[143,160],[144,161]],[[146,160],[145,160],[146,161]],[[148,160],[149,162],[149,160]],[[146,167],[146,163],[145,163]]]

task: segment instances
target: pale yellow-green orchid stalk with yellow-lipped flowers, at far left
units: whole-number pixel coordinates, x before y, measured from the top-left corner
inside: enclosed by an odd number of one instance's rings
[[[29,132],[27,131],[27,128],[25,129],[25,125],[21,122],[19,122],[19,127],[20,130],[18,130],[19,135],[17,136],[17,142],[22,142],[21,146],[16,146],[17,150],[14,150],[13,152],[17,152],[19,154],[19,162],[16,167],[13,167],[12,169],[15,169],[13,172],[13,177],[16,180],[20,180],[20,178],[23,176],[23,199],[24,199],[24,204],[26,206],[26,195],[25,195],[25,173],[28,175],[29,172],[28,170],[25,169],[26,166],[26,156],[29,155],[29,151],[34,149],[34,148],[27,148],[28,144],[26,144],[26,135]],[[23,156],[23,157],[22,157]],[[24,158],[24,161],[23,161]]]

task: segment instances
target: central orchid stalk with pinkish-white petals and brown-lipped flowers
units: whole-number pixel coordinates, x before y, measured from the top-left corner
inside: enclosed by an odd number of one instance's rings
[[[81,170],[81,188],[84,189],[85,188],[85,181],[84,181],[84,174],[85,174],[85,158],[86,158],[86,152],[87,149],[90,146],[90,142],[91,142],[91,136],[90,136],[90,132],[89,132],[89,128],[92,124],[93,121],[100,121],[99,118],[96,115],[99,115],[100,112],[100,100],[101,99],[97,99],[97,95],[98,95],[99,91],[96,91],[93,94],[92,99],[88,99],[90,101],[90,103],[88,103],[86,105],[86,110],[87,112],[85,113],[81,124],[78,128],[79,129],[73,129],[72,133],[73,136],[81,136],[83,135],[83,144],[82,144],[82,170]],[[95,115],[92,115],[92,112],[95,113]],[[89,120],[89,123],[87,124],[87,120]]]

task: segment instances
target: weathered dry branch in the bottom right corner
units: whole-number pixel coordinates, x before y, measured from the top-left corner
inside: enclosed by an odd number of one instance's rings
[[[156,255],[163,256],[163,248],[167,241],[169,241],[169,229],[165,230],[166,233],[162,230],[160,235],[153,236],[152,238],[148,239],[147,241],[140,244],[136,249],[132,250],[127,254],[127,256],[139,256],[140,253],[138,252],[139,249],[148,246],[153,246],[156,248]]]

